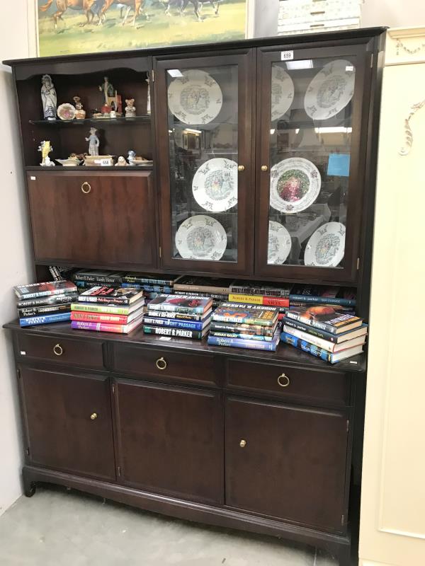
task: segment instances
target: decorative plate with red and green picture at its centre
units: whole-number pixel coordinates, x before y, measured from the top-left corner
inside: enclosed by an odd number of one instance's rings
[[[310,207],[321,185],[317,167],[303,157],[279,161],[270,172],[270,206],[279,212],[300,212]]]

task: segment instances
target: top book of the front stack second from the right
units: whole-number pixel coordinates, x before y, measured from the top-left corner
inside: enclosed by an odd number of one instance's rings
[[[273,306],[222,303],[212,314],[212,320],[223,323],[273,326],[278,320],[278,315],[279,309]]]

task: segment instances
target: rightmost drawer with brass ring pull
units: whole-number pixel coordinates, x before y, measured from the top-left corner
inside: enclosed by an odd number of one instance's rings
[[[227,388],[306,403],[349,405],[351,379],[336,371],[229,360]]]

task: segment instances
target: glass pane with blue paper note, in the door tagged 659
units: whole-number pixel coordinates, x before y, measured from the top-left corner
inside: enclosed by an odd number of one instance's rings
[[[268,264],[343,267],[353,62],[273,63]]]

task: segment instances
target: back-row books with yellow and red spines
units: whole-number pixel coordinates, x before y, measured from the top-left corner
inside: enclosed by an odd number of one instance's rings
[[[253,283],[234,281],[229,289],[229,302],[263,306],[276,306],[283,316],[289,307],[292,285],[286,283]],[[282,316],[280,318],[282,318]]]

